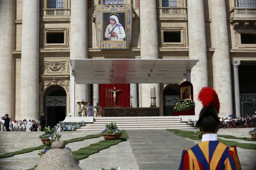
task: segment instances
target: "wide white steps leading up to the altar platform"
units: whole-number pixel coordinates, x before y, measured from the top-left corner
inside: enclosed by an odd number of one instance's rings
[[[180,122],[179,116],[151,116],[95,117],[93,123],[87,123],[76,131],[102,131],[111,122],[116,122],[117,127],[122,130],[195,129],[187,122]]]

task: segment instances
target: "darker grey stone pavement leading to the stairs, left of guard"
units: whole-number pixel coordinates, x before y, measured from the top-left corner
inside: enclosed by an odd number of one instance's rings
[[[193,141],[167,130],[127,131],[140,170],[177,170],[181,153]]]

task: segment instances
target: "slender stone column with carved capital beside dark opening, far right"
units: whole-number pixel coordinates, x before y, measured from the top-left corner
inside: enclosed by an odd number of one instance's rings
[[[238,75],[238,67],[240,65],[240,61],[231,61],[231,65],[234,68],[234,87],[235,87],[235,105],[236,105],[236,116],[241,116],[240,111],[240,90],[239,90],[239,75]]]

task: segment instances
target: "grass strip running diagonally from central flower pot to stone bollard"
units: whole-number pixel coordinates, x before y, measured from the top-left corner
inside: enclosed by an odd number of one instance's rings
[[[88,158],[90,155],[92,155],[94,153],[98,153],[99,151],[107,149],[113,145],[120,143],[120,142],[127,141],[128,138],[129,138],[128,134],[126,133],[125,130],[123,130],[123,134],[121,136],[121,139],[119,139],[119,140],[102,140],[98,143],[90,144],[87,147],[82,147],[79,150],[73,151],[72,154],[73,154],[74,158],[76,159],[76,161],[79,161],[81,159]],[[38,165],[35,165],[35,167],[30,168],[28,170],[35,170],[35,168],[37,166]]]

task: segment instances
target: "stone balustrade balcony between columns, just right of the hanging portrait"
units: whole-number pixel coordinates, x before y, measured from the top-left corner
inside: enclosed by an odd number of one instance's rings
[[[185,7],[159,7],[160,20],[187,20]]]

